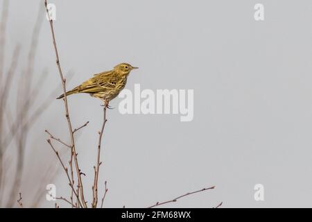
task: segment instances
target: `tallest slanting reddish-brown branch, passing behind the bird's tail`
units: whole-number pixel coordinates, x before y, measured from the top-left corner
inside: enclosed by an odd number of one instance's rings
[[[73,128],[71,127],[71,119],[69,117],[69,109],[68,109],[68,104],[67,104],[67,96],[66,96],[66,80],[63,77],[62,74],[62,68],[60,66],[60,58],[58,56],[58,47],[56,46],[56,41],[55,41],[55,33],[54,33],[54,28],[53,28],[53,20],[50,17],[49,14],[49,10],[48,10],[48,4],[46,2],[46,0],[44,0],[44,6],[46,8],[46,13],[49,16],[49,23],[50,23],[50,28],[51,28],[51,35],[53,38],[53,46],[54,46],[54,51],[55,51],[55,58],[56,58],[56,65],[58,66],[58,72],[60,74],[60,79],[62,80],[62,88],[63,88],[63,93],[64,93],[64,106],[65,106],[65,116],[67,119],[67,124],[68,124],[68,128],[69,128],[69,135],[71,137],[71,155],[73,155],[73,160],[75,162],[75,168],[76,168],[76,173],[77,173],[77,178],[78,178],[78,189],[80,191],[80,198],[83,202],[83,207],[87,208],[87,203],[85,201],[85,197],[83,194],[83,181],[81,180],[81,176],[80,176],[80,169],[78,166],[78,159],[77,159],[77,155],[76,155],[76,147],[75,147],[75,140],[73,137]]]

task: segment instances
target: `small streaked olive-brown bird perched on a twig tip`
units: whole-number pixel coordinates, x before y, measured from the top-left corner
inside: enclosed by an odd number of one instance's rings
[[[66,92],[66,96],[87,93],[90,94],[90,96],[101,99],[105,106],[108,107],[108,103],[118,96],[125,87],[128,75],[133,69],[139,68],[132,67],[132,65],[123,62],[116,65],[114,69],[110,71],[103,71],[99,74],[95,74],[92,78],[89,78],[82,84]],[[64,98],[64,94],[58,96],[57,99],[62,98]]]

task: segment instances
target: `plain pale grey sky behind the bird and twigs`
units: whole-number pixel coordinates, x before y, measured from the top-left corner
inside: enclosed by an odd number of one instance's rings
[[[212,185],[166,207],[311,207],[311,1],[49,2],[57,10],[62,68],[74,72],[68,89],[120,62],[139,67],[127,89],[194,89],[191,122],[174,114],[122,115],[121,99],[112,101],[99,180],[108,182],[106,207],[147,207]],[[256,3],[264,5],[263,22],[254,20]],[[38,7],[37,0],[10,0],[9,55],[20,43],[27,56]],[[44,99],[60,84],[46,20],[39,41],[35,71],[49,69]],[[68,100],[73,127],[90,121],[76,145],[90,203],[101,101],[83,94]],[[32,128],[28,146],[40,144],[40,151],[30,161],[55,158],[46,128],[69,140],[62,101],[52,101]],[[58,196],[69,194],[62,171],[51,183]],[[258,183],[264,201],[254,200]]]

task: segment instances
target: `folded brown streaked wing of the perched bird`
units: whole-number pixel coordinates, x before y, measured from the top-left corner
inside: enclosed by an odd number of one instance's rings
[[[80,85],[79,92],[96,93],[105,92],[116,87],[118,76],[114,71],[105,71],[85,81]]]

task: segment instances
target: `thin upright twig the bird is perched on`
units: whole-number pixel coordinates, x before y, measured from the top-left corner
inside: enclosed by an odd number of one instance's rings
[[[99,138],[98,138],[98,156],[96,160],[96,167],[94,167],[94,185],[92,187],[93,189],[93,201],[92,201],[92,207],[96,208],[96,205],[98,204],[98,172],[100,170],[100,165],[102,162],[100,162],[100,157],[101,157],[101,142],[102,142],[102,137],[103,137],[103,132],[105,128],[105,123],[107,122],[106,119],[106,108],[107,104],[103,106],[103,124],[101,128],[101,132],[99,132]]]

